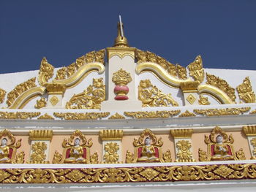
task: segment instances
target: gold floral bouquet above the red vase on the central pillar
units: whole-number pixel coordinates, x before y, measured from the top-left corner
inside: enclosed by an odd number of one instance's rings
[[[115,85],[127,85],[132,81],[132,77],[129,72],[119,69],[117,72],[113,73],[112,81]]]

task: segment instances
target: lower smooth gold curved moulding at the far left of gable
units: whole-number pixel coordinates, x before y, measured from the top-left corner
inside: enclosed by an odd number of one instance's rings
[[[36,87],[31,88],[28,91],[25,91],[22,93],[9,107],[9,109],[23,109],[23,107],[31,101],[31,99],[34,99],[36,96],[42,96],[42,94],[45,93],[45,88],[43,87]]]

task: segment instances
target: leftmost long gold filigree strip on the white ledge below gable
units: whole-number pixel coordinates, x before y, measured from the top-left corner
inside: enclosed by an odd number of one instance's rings
[[[31,119],[40,114],[41,112],[0,112],[0,119]]]

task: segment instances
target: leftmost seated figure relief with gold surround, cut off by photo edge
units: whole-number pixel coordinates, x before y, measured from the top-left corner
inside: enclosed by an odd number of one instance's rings
[[[3,131],[0,131],[0,140],[0,164],[19,163],[15,158],[17,158],[17,149],[21,146],[21,139],[16,142],[16,138],[13,134],[9,130],[4,129]]]

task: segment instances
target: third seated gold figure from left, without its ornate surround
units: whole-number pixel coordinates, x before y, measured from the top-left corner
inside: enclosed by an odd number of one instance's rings
[[[145,145],[138,149],[138,153],[140,154],[140,158],[138,158],[138,162],[160,162],[157,147],[151,145],[150,137],[146,137]]]

